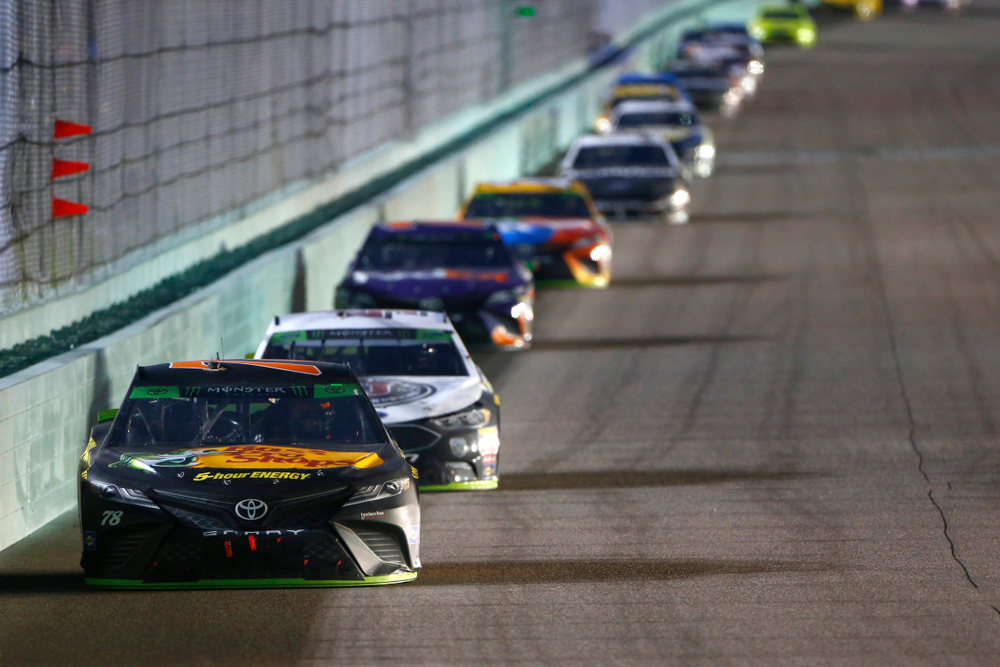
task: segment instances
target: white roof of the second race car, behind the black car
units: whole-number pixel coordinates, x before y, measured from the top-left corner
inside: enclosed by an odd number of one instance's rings
[[[328,329],[434,329],[454,332],[444,313],[427,310],[348,309],[282,315],[272,320],[269,333]]]

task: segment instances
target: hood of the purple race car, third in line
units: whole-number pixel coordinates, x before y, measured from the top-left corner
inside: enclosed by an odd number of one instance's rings
[[[431,269],[427,271],[355,271],[346,284],[374,294],[405,299],[462,297],[492,294],[523,284],[512,269]]]

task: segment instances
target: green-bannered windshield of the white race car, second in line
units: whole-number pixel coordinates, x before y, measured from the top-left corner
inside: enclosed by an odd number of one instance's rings
[[[350,364],[358,376],[467,376],[468,370],[447,331],[338,329],[276,334],[266,359],[305,359]]]

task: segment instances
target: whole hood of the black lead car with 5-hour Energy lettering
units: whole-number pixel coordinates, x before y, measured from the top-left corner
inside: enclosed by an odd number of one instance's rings
[[[264,498],[369,484],[398,476],[402,464],[389,444],[343,445],[336,451],[308,445],[200,444],[105,449],[93,467],[115,484],[134,484],[141,491],[211,496],[252,490]]]

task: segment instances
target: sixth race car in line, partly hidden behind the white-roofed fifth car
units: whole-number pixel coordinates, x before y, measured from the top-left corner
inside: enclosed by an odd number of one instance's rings
[[[712,175],[715,137],[701,122],[693,104],[686,102],[626,102],[611,114],[612,128],[650,130],[670,142],[677,157],[695,174]]]

